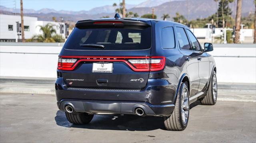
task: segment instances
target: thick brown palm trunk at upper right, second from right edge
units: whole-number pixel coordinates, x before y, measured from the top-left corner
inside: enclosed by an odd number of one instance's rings
[[[237,7],[236,7],[236,33],[235,33],[235,41],[234,41],[234,43],[239,43],[241,15],[242,15],[242,0],[237,0]]]

